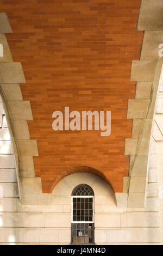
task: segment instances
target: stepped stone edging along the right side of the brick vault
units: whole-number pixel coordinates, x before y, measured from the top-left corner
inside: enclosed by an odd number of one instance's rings
[[[128,101],[127,118],[133,119],[131,139],[126,139],[125,154],[130,155],[129,177],[124,180],[129,208],[144,208],[147,197],[149,152],[162,83],[163,6],[160,0],[142,0],[137,29],[145,31],[140,60],[133,60],[131,81],[136,81],[136,97]]]

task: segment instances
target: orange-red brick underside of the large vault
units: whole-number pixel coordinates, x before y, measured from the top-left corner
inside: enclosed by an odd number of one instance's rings
[[[143,32],[136,31],[140,0],[0,1],[12,27],[7,40],[14,62],[21,62],[37,140],[35,174],[43,192],[65,175],[92,172],[115,192],[128,176],[125,138],[131,138],[128,99],[131,61],[140,58]],[[111,111],[111,135],[101,131],[54,131],[54,111]]]

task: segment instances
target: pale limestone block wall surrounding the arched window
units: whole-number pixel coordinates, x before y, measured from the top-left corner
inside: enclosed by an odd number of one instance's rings
[[[143,209],[118,208],[111,187],[91,173],[66,176],[54,188],[51,202],[22,205],[14,155],[1,105],[0,117],[0,244],[69,244],[71,241],[71,193],[78,184],[95,192],[95,242],[99,245],[160,244],[160,216],[156,151],[151,147],[147,205]],[[0,118],[0,119],[1,119]],[[139,186],[139,184],[136,184]],[[33,194],[31,196],[32,200]]]

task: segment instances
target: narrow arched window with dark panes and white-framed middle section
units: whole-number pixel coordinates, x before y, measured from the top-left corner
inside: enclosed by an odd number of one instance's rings
[[[94,243],[94,192],[86,184],[72,191],[71,243]]]

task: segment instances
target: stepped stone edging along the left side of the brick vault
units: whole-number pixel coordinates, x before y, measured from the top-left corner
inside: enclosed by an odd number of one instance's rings
[[[21,63],[14,63],[4,33],[12,33],[5,13],[0,13],[0,93],[14,150],[18,191],[22,204],[47,205],[50,194],[42,193],[41,178],[35,177],[33,156],[37,143],[29,136],[28,120],[33,120],[29,101],[23,101],[20,83],[26,83]]]

